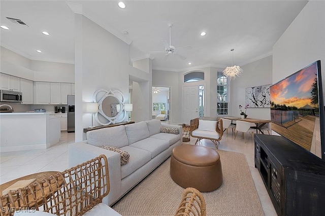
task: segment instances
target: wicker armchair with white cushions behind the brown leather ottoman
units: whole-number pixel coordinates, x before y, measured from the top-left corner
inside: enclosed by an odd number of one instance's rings
[[[207,120],[211,121],[211,120]],[[222,120],[218,119],[215,128],[211,128],[210,131],[202,131],[199,130],[199,118],[190,120],[190,135],[194,138],[197,138],[195,145],[197,142],[200,143],[201,139],[210,139],[216,148],[218,148],[218,143],[222,138],[223,134],[223,126]]]

